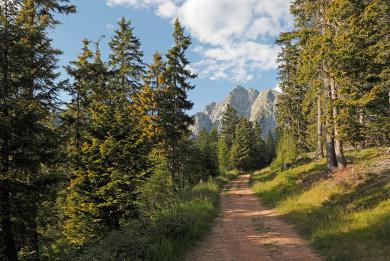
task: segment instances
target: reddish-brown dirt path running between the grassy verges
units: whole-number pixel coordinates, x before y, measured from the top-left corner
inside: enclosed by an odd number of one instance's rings
[[[242,175],[224,188],[215,227],[186,260],[321,260],[291,226],[261,205],[249,177]]]

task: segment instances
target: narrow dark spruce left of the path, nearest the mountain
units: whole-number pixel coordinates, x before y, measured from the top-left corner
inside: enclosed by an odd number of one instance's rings
[[[160,123],[162,140],[167,151],[168,166],[173,175],[177,189],[185,184],[185,173],[180,170],[177,158],[179,142],[185,141],[189,133],[189,126],[193,119],[187,114],[193,106],[188,100],[187,92],[194,88],[190,80],[196,77],[189,69],[189,60],[185,52],[191,44],[190,36],[185,35],[184,28],[178,19],[174,23],[173,39],[175,45],[166,55],[164,82],[166,84],[161,97]]]

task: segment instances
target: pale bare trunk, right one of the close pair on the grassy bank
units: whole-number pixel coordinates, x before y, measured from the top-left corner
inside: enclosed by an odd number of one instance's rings
[[[335,144],[335,152],[336,152],[336,159],[337,159],[337,166],[339,169],[345,169],[347,166],[347,161],[344,157],[344,150],[343,150],[343,141],[340,138],[340,131],[339,131],[339,124],[338,124],[338,108],[337,104],[334,104],[334,102],[337,100],[337,86],[336,81],[331,78],[330,80],[330,90],[331,90],[331,97],[333,101],[332,106],[332,116],[333,116],[333,125],[334,125],[334,144]]]

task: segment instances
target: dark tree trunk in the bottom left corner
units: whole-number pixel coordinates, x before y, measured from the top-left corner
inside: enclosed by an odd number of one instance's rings
[[[5,244],[5,260],[17,261],[18,255],[12,232],[10,193],[7,185],[4,183],[0,183],[0,215],[2,236]]]

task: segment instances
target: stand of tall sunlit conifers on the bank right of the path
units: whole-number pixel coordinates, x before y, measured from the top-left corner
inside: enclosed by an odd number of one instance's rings
[[[344,144],[389,143],[389,8],[382,0],[292,3],[296,26],[278,39],[281,164],[314,148],[321,158],[325,142],[328,169],[343,169]]]

